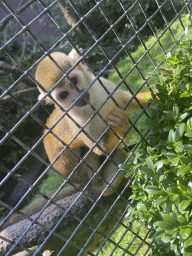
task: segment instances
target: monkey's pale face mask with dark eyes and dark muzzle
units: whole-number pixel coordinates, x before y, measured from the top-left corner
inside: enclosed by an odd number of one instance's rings
[[[88,83],[86,76],[79,70],[73,70],[68,77],[57,85],[51,96],[64,109],[70,108],[72,104],[72,108],[86,107],[90,101],[90,93],[85,91]]]

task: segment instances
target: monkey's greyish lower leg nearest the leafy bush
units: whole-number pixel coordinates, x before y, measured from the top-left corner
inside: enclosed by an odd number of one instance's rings
[[[114,193],[114,189],[119,186],[122,179],[125,177],[122,171],[119,170],[118,165],[123,163],[126,157],[127,153],[124,149],[117,149],[112,154],[111,158],[107,161],[107,163],[104,165],[102,169],[102,178],[104,181],[99,187],[100,192],[102,192],[107,187],[107,184],[110,184],[110,186],[105,191],[104,196],[109,196]],[[115,179],[113,180],[114,177]]]

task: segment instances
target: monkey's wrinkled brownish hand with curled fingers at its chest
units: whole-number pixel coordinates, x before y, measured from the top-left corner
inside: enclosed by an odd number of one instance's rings
[[[106,117],[108,125],[111,125],[112,128],[120,130],[120,133],[126,133],[128,130],[128,116],[127,114],[118,107],[112,108],[109,111]]]

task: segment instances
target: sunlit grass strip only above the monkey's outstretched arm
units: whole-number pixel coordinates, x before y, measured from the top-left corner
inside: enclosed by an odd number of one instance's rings
[[[181,20],[184,26],[189,25],[189,21],[186,15],[181,16]],[[145,79],[149,77],[149,72],[152,72],[155,69],[155,66],[158,66],[160,64],[160,62],[165,57],[165,54],[167,54],[175,45],[170,31],[172,32],[172,35],[174,35],[175,38],[180,38],[183,35],[184,30],[179,20],[176,20],[171,25],[170,29],[167,30],[165,33],[163,32],[163,30],[159,31],[157,33],[157,37],[159,38],[158,41],[155,36],[151,36],[145,42],[145,46],[147,50],[144,48],[143,45],[140,45],[135,52],[131,53],[131,56],[134,62],[137,64],[139,71],[142,73]],[[160,44],[164,49],[164,52],[162,51]],[[152,58],[155,66],[153,65],[150,57]],[[119,72],[121,73],[121,75],[124,77],[127,75],[129,70],[131,70],[134,67],[135,63],[133,63],[131,58],[127,56],[124,59],[120,60],[116,66]],[[126,78],[127,84],[134,92],[144,82],[144,79],[139,74],[139,71],[137,70],[136,67],[134,67],[132,72]],[[118,84],[121,81],[120,77],[116,72],[111,73],[108,79],[114,82],[115,84]],[[144,89],[143,91],[146,91],[148,90],[148,87],[144,86],[143,89]]]

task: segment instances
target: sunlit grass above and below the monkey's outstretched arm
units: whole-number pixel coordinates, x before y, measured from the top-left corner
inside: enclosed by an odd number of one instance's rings
[[[187,26],[189,24],[186,15],[181,16],[181,20],[184,26]],[[170,52],[175,45],[171,33],[174,38],[177,39],[183,35],[184,29],[179,20],[176,20],[171,25],[170,29],[168,29],[165,33],[163,32],[163,30],[159,31],[157,33],[158,40],[155,36],[151,36],[145,42],[146,48],[143,45],[140,45],[135,52],[132,52],[131,57],[134,62],[129,56],[127,56],[117,63],[116,67],[121,73],[122,77],[127,76],[128,72],[131,70],[125,81],[134,93],[140,87],[142,88],[141,92],[149,91],[148,84],[144,84],[146,79],[149,78],[149,73],[155,70],[155,67],[157,67],[161,63],[165,55]],[[142,74],[142,76],[140,73]],[[111,73],[108,79],[115,84],[119,84],[121,82],[121,78],[119,77],[117,72]],[[126,89],[126,86],[122,84],[121,88]],[[138,117],[139,113],[140,111],[132,112],[129,114],[129,119],[131,120],[131,122],[134,122],[134,120]],[[146,131],[144,125],[144,123],[146,122],[145,120],[146,115],[143,114],[135,125],[135,127],[140,131],[142,135]],[[127,143],[130,145],[135,144],[140,139],[141,136],[133,128]]]

